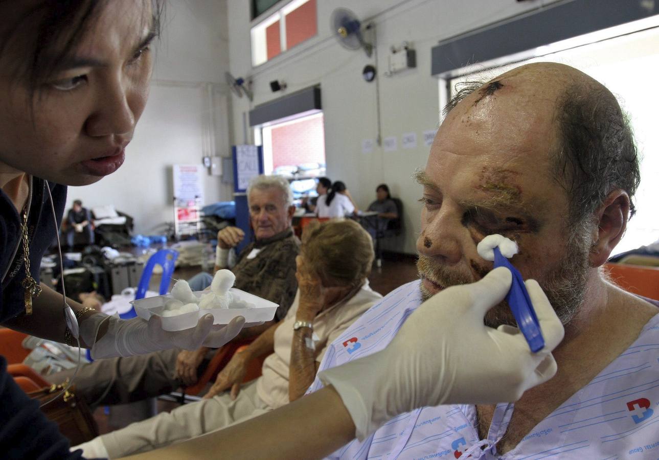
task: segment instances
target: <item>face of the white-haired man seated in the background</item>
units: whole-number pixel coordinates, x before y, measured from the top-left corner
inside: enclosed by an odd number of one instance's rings
[[[249,214],[257,239],[270,238],[291,226],[293,210],[286,206],[286,198],[278,188],[250,190]]]

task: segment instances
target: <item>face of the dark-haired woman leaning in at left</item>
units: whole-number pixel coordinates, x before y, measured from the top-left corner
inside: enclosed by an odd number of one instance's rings
[[[107,2],[32,107],[28,82],[3,71],[30,55],[30,30],[16,32],[0,56],[0,171],[65,185],[116,171],[148,96],[152,27],[150,1]]]

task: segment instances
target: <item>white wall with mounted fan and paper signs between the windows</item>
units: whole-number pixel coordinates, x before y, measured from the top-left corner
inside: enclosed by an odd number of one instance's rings
[[[251,75],[254,102],[233,100],[233,125],[243,140],[243,113],[254,105],[280,97],[270,91],[270,80],[284,80],[287,93],[319,84],[325,118],[328,175],[344,181],[365,208],[375,198],[379,183],[387,183],[405,206],[405,237],[395,249],[415,254],[420,231],[420,187],[410,177],[423,166],[429,148],[422,142],[424,130],[439,122],[438,80],[430,76],[430,49],[439,40],[474,30],[517,14],[538,9],[547,0],[317,0],[318,36],[268,63],[252,69],[250,61],[250,16],[244,0],[228,0],[231,72]],[[362,79],[362,68],[373,64],[363,51],[344,49],[331,36],[329,21],[337,7],[349,7],[362,20],[376,24],[378,77],[382,107],[382,137],[397,136],[399,150],[384,152],[376,146],[371,154],[361,153],[364,138],[376,138],[376,86]],[[387,56],[391,45],[407,41],[416,49],[416,69],[387,78]],[[418,147],[401,149],[401,134],[416,132]]]

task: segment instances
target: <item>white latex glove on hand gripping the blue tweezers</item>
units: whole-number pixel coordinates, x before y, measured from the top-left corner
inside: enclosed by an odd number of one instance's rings
[[[418,407],[517,401],[556,374],[551,352],[563,325],[536,281],[526,285],[544,349],[531,353],[517,328],[483,324],[511,279],[501,267],[476,283],[449,287],[421,304],[382,351],[320,372],[341,395],[359,440]]]

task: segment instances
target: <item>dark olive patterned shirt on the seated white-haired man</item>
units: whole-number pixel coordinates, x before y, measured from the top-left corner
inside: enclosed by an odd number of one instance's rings
[[[250,258],[252,250],[260,250]],[[231,269],[236,275],[233,287],[279,304],[275,320],[286,316],[297,291],[295,257],[300,253],[300,240],[292,229],[272,238],[248,244]]]

